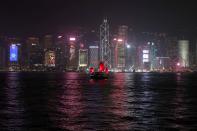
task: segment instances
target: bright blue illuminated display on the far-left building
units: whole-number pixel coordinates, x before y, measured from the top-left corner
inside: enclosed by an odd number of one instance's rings
[[[16,44],[10,46],[10,62],[18,61],[18,47]]]

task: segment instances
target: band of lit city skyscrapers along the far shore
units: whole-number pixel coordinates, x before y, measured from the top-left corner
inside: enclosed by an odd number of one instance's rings
[[[107,37],[102,30],[100,33],[103,38]],[[113,33],[111,38],[114,39],[100,37],[100,42],[90,43],[83,37],[70,35],[7,37],[1,39],[1,68],[9,71],[85,71],[91,66],[97,67],[95,64],[102,61],[112,72],[196,69],[196,43],[189,39],[146,32],[129,40],[128,26],[125,25]],[[83,33],[78,35],[83,36]],[[104,41],[110,42],[109,48],[105,48]],[[106,55],[102,49],[110,53]]]

